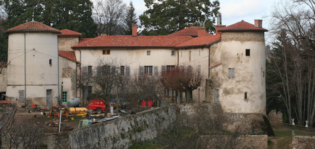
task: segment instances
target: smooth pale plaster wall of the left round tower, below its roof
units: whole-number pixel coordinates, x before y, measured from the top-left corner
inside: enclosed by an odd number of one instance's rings
[[[58,96],[58,47],[55,32],[25,32],[26,45],[26,100],[45,105],[46,89],[52,89],[52,103]],[[24,90],[24,34],[8,35],[7,92],[18,98],[18,90]],[[52,64],[49,64],[51,59]]]

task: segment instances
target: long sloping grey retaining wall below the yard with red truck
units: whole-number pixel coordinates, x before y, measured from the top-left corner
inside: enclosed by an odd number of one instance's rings
[[[175,120],[176,108],[170,104],[51,135],[46,144],[48,148],[128,148],[134,141],[153,139]]]

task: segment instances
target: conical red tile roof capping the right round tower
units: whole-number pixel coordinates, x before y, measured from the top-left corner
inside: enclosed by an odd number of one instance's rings
[[[217,31],[268,31],[267,29],[256,27],[255,25],[241,20],[235,24],[218,29]]]

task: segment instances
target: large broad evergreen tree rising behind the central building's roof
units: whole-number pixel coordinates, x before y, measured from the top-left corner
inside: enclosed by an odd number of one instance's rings
[[[144,0],[148,8],[139,16],[145,29],[143,34],[163,35],[190,25],[200,26],[198,18],[207,20],[208,32],[214,31],[213,23],[219,9],[219,1],[214,0]]]

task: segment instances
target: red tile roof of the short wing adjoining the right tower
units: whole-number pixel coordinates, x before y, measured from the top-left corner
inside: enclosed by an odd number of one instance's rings
[[[194,37],[188,41],[182,42],[175,47],[192,47],[192,46],[206,46],[211,45],[220,41],[221,35],[209,35],[209,36],[202,36],[202,37]]]

